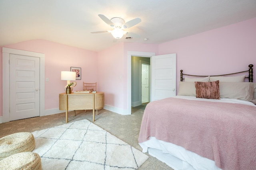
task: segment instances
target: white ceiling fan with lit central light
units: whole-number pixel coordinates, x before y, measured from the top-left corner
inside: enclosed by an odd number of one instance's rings
[[[111,31],[96,31],[91,33],[111,33],[115,39],[122,38],[123,35],[127,34],[127,31],[124,31],[123,29],[127,29],[130,27],[133,27],[134,25],[137,25],[141,22],[140,18],[135,18],[133,20],[130,20],[128,22],[124,22],[122,18],[115,17],[109,20],[106,16],[99,14],[98,15],[104,22],[106,22],[108,25],[110,25],[113,29]]]

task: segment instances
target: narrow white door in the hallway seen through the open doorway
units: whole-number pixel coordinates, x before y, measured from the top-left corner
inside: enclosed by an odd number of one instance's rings
[[[141,103],[149,102],[149,65],[141,64]]]

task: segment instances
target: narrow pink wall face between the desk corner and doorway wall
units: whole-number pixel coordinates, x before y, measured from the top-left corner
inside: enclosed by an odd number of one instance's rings
[[[105,93],[105,104],[123,108],[124,56],[123,43],[98,52],[98,86]]]

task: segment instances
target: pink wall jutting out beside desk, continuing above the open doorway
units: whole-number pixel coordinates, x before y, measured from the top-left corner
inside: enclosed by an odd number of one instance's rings
[[[158,45],[119,43],[98,52],[98,82],[105,92],[105,104],[127,108],[127,51],[156,52]]]

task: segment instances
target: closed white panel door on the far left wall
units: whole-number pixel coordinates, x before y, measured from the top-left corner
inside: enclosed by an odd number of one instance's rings
[[[10,55],[10,121],[40,115],[40,59]]]

